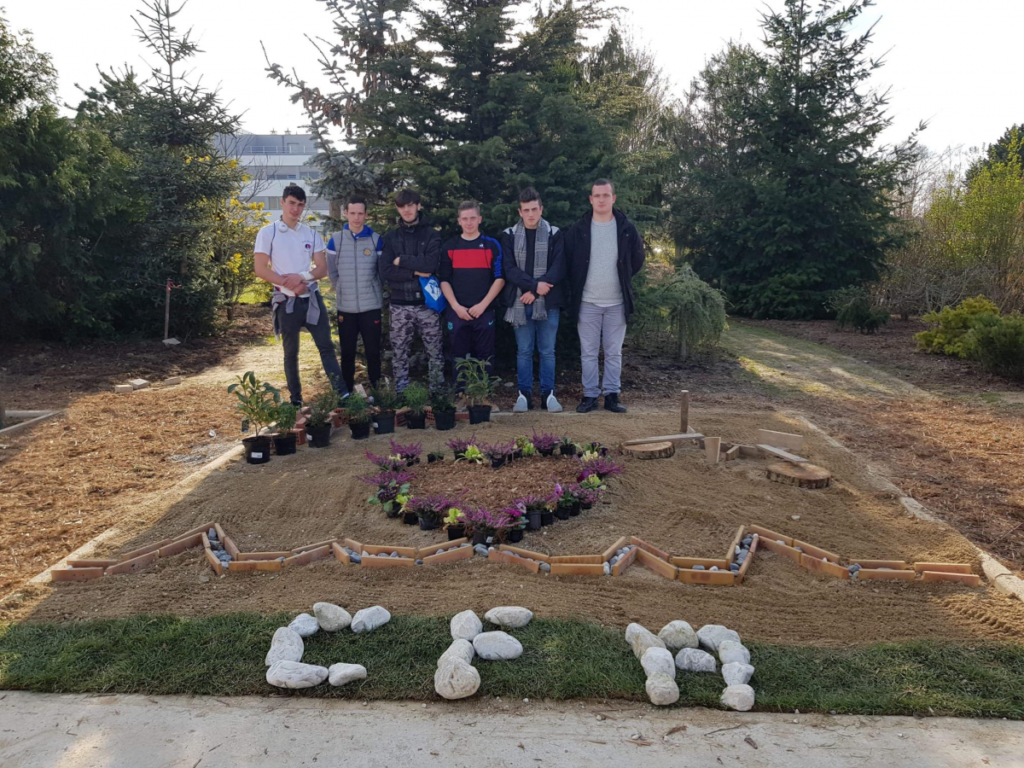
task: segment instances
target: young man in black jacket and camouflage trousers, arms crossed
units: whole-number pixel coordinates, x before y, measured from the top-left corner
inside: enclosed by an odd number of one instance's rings
[[[440,318],[426,305],[420,284],[420,278],[430,278],[437,271],[441,237],[427,223],[421,200],[415,189],[402,189],[395,196],[397,226],[384,236],[384,250],[378,262],[381,280],[391,293],[391,346],[394,350],[391,365],[398,392],[409,386],[409,352],[417,333],[427,350],[430,386],[438,386],[444,378]]]

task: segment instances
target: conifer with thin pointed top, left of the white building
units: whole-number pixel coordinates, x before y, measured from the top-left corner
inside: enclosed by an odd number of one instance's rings
[[[242,183],[237,163],[216,148],[238,118],[215,91],[190,80],[200,52],[180,32],[181,6],[147,0],[135,18],[138,38],[157,57],[145,80],[130,69],[101,73],[86,91],[79,121],[105,133],[129,159],[131,215],[112,222],[102,244],[112,323],[120,332],[163,330],[165,286],[176,288],[172,331],[208,333],[222,299],[212,238],[219,207]]]

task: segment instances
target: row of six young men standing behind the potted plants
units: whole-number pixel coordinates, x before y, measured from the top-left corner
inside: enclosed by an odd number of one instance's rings
[[[540,406],[561,411],[555,396],[555,338],[565,314],[575,319],[580,334],[584,397],[577,411],[593,411],[603,394],[606,410],[626,413],[618,398],[623,340],[633,311],[633,275],[643,265],[644,250],[636,227],[615,209],[614,185],[608,179],[594,182],[591,210],[567,230],[544,218],[541,196],[527,187],[519,194],[519,221],[497,240],[480,231],[480,207],[467,201],[459,206],[462,233],[443,244],[413,189],[395,196],[396,226],[383,237],[366,223],[367,201],[352,197],[345,205],[344,227],[327,244],[301,222],[305,201],[302,187],[287,186],[281,220],[262,227],[255,246],[256,276],[273,285],[273,328],[284,343],[292,402],[302,402],[302,328],[312,336],[340,396],[347,396],[355,384],[359,337],[370,383],[377,384],[387,286],[398,392],[409,385],[410,352],[417,335],[427,352],[431,385],[436,386],[444,378],[442,324],[455,360],[473,356],[493,366],[495,324],[505,322],[514,330],[518,349],[519,392],[513,411],[534,407],[535,351],[540,356]],[[327,276],[337,294],[340,366],[317,283]],[[598,367],[602,349],[603,379]]]

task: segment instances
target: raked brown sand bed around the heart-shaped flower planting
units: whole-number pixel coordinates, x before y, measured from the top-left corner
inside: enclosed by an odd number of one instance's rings
[[[804,431],[767,412],[701,411],[693,421],[705,434],[729,441],[753,441],[758,427]],[[677,425],[678,417],[670,413],[557,419],[538,414],[501,418],[477,433],[481,440],[494,441],[529,434],[537,426],[612,445],[672,432]],[[460,426],[457,433],[468,435],[470,430]],[[408,441],[413,435],[423,440],[424,451],[431,451],[443,447],[451,434],[402,431],[398,437]],[[346,438],[268,465],[237,464],[215,472],[170,509],[155,509],[156,523],[118,542],[120,551],[208,520],[220,522],[243,551],[288,549],[333,537],[406,546],[442,541],[441,531],[402,525],[366,504],[372,488],[359,477],[373,467],[362,452],[382,453],[385,445],[383,437],[358,443]],[[831,487],[804,490],[769,482],[766,463],[755,460],[710,467],[695,447],[682,446],[668,460],[625,458],[626,473],[609,482],[606,503],[543,532],[527,534],[520,546],[549,554],[589,554],[620,536],[634,535],[672,554],[722,557],[738,525],[758,523],[848,556],[973,562],[973,550],[962,536],[909,518],[896,500],[873,489],[864,468],[845,452],[808,435],[806,453],[833,471]],[[502,486],[503,470],[479,467],[475,477],[489,496]],[[515,490],[510,489],[510,498]],[[1024,605],[987,587],[844,582],[760,552],[739,587],[684,585],[638,565],[617,579],[538,577],[480,558],[393,570],[330,560],[275,574],[217,579],[191,552],[161,560],[142,573],[34,588],[26,594],[15,613],[38,621],[299,610],[316,600],[332,600],[355,608],[379,602],[392,612],[422,614],[521,603],[539,615],[614,626],[640,621],[658,627],[682,617],[692,624],[727,624],[757,640],[824,645],[912,638],[1011,640],[1024,629]]]

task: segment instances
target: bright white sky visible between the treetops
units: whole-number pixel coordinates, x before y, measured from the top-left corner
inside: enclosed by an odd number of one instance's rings
[[[2,2],[2,0],[0,0]],[[708,56],[730,39],[760,40],[761,0],[620,0],[634,37],[656,55],[677,90],[699,72]],[[139,0],[17,0],[6,9],[15,30],[30,30],[36,46],[53,56],[60,97],[79,100],[75,83],[98,81],[96,66],[124,63],[144,70],[142,47],[131,20]],[[780,7],[781,0],[768,5]],[[889,51],[877,84],[892,86],[893,129],[903,138],[921,120],[930,125],[922,142],[933,150],[977,146],[1024,122],[1019,90],[1024,2],[1019,0],[879,0],[881,16],[873,55]],[[195,71],[219,85],[254,133],[293,131],[304,124],[301,106],[264,73],[262,41],[272,60],[295,67],[322,84],[315,55],[303,34],[330,37],[331,16],[316,0],[191,0],[181,26],[193,26],[205,52]]]

